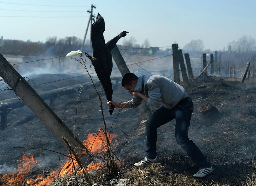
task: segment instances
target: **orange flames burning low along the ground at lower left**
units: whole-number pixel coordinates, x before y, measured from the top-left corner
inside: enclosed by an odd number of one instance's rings
[[[109,136],[109,133],[107,133]],[[109,137],[109,142],[111,143],[112,139],[115,138],[116,134],[111,134]],[[98,129],[98,133],[88,134],[86,140],[83,141],[85,147],[89,149],[92,154],[106,152],[106,137],[103,130]],[[85,153],[84,153],[85,154]],[[74,157],[73,157],[74,158]],[[62,169],[54,170],[50,173],[47,178],[44,178],[42,175],[38,175],[36,179],[28,179],[26,175],[31,172],[32,166],[37,162],[34,157],[31,155],[23,155],[18,162],[20,162],[15,169],[14,173],[4,173],[3,177],[0,178],[0,184],[4,183],[3,186],[19,186],[19,185],[31,185],[31,186],[45,186],[51,184],[57,177],[69,176],[74,173],[74,166],[71,159],[68,159]],[[77,174],[81,174],[82,171],[79,169],[78,163],[73,161]],[[86,171],[98,169],[102,165],[102,162],[92,163],[88,165]]]

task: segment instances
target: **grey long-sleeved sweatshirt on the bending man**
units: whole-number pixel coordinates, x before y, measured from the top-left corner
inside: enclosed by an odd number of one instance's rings
[[[169,109],[188,96],[179,84],[166,77],[151,74],[138,77],[137,83],[130,92],[140,92],[148,96],[148,104],[152,107],[159,108],[163,104]],[[141,102],[142,98],[133,96],[132,100],[127,101],[126,104],[130,108],[135,108]]]

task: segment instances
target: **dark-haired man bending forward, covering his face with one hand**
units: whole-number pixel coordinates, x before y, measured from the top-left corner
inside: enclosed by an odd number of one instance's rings
[[[119,108],[135,108],[144,100],[149,105],[158,108],[145,124],[146,157],[135,163],[135,166],[157,162],[157,128],[175,118],[176,142],[199,166],[199,171],[193,176],[204,177],[213,171],[207,158],[188,138],[193,102],[182,86],[163,76],[149,74],[137,77],[133,73],[127,73],[123,76],[122,86],[130,91],[133,96],[132,100],[123,103],[107,101],[108,105],[113,104]]]

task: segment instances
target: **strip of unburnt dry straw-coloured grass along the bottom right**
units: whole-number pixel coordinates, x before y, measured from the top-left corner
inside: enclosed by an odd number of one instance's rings
[[[161,164],[152,164],[147,167],[134,167],[122,175],[126,180],[126,186],[256,186],[256,174],[244,176],[242,173],[234,177],[234,183],[227,180],[217,182],[193,178],[186,173],[165,173],[165,167]]]

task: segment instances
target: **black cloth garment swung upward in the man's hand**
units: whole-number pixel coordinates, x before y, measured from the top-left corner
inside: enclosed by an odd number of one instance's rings
[[[103,86],[105,95],[107,100],[112,100],[112,83],[110,79],[110,75],[112,72],[113,61],[111,50],[116,45],[117,41],[126,36],[126,31],[123,31],[107,43],[105,43],[105,39],[103,36],[103,32],[105,31],[105,21],[103,17],[98,13],[97,20],[92,24],[91,30],[91,40],[92,40],[92,49],[93,49],[93,57],[86,54],[88,58],[91,59],[92,65],[94,66],[95,72]],[[109,113],[112,115],[114,110],[114,106],[111,105],[109,107]]]

